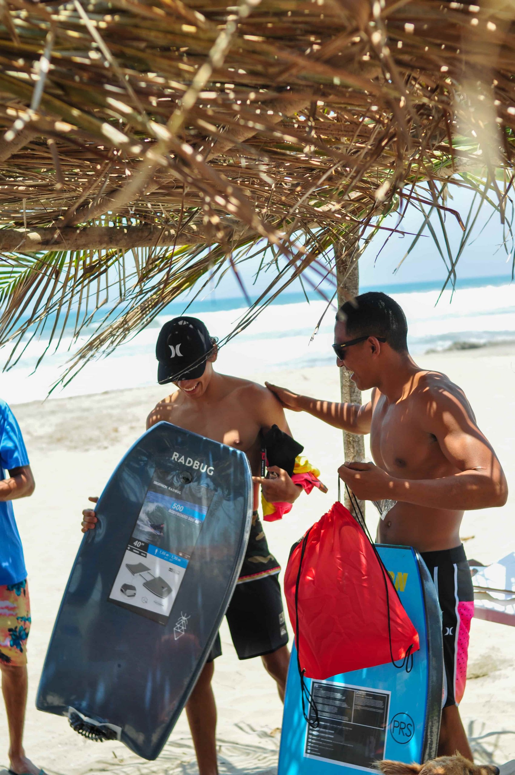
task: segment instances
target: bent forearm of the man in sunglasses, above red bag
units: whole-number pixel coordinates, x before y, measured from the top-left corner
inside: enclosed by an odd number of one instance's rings
[[[418,506],[465,512],[503,506],[507,487],[505,482],[496,482],[489,474],[469,470],[441,479],[392,478],[389,494],[385,497]]]

